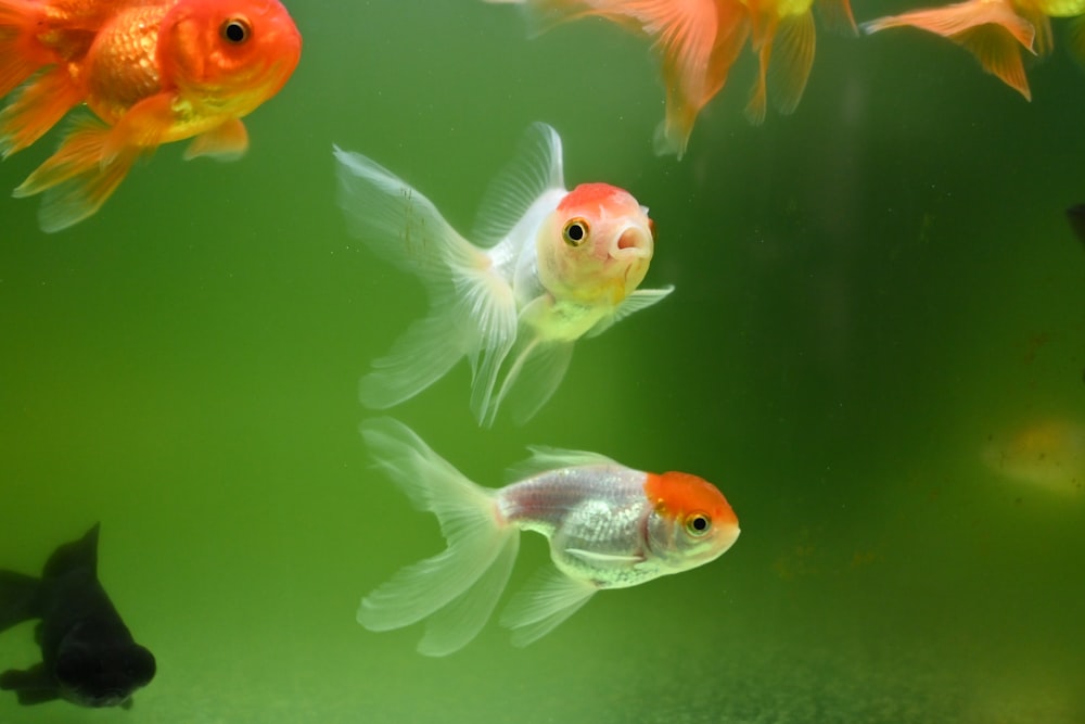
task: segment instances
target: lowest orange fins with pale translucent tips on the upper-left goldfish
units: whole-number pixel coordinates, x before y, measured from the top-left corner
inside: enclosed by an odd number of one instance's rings
[[[60,231],[97,212],[139,157],[127,147],[105,160],[115,129],[95,118],[79,119],[61,148],[46,160],[12,195],[44,193],[38,220],[43,231]]]

